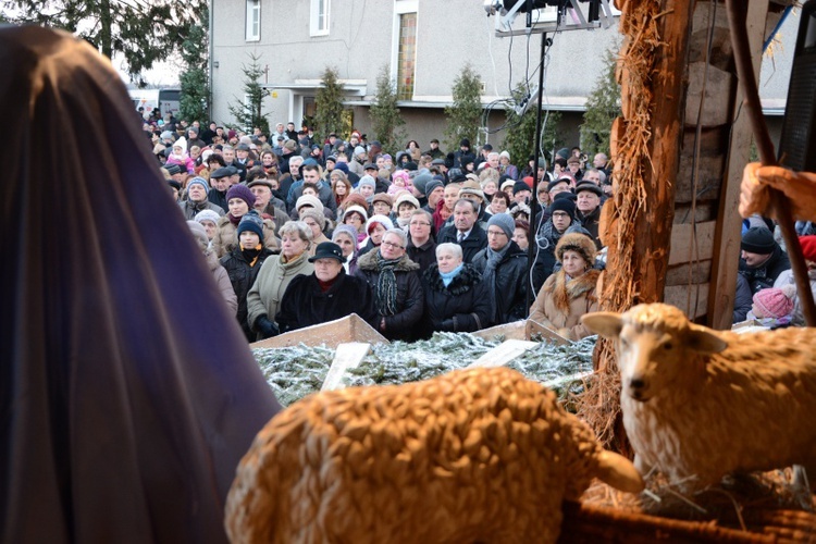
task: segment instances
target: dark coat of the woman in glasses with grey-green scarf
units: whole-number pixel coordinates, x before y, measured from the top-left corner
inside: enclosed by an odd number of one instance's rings
[[[376,265],[379,249],[369,251],[358,257],[357,271],[355,275],[366,281],[376,300],[376,282],[380,271]],[[419,264],[404,255],[394,268],[394,276],[397,280],[397,312],[394,316],[380,316],[385,318],[385,331],[380,330],[380,323],[374,327],[388,339],[412,341],[417,339],[419,321],[422,319],[424,308],[424,296],[422,284],[419,280]]]

